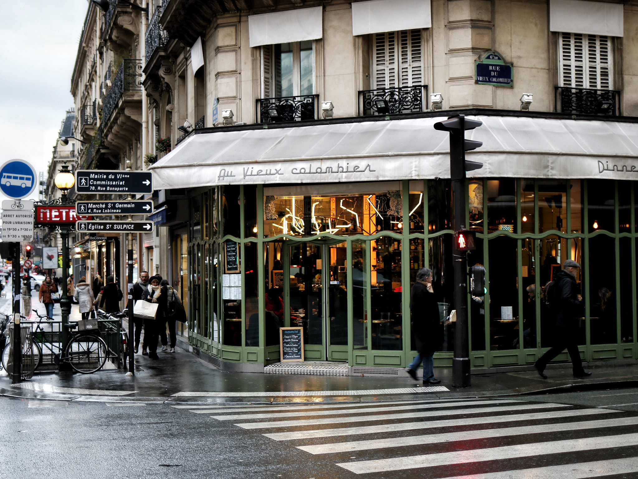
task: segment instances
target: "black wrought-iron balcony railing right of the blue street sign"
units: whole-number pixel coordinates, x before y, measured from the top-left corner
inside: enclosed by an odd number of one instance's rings
[[[620,91],[557,86],[556,111],[618,116],[620,114]]]

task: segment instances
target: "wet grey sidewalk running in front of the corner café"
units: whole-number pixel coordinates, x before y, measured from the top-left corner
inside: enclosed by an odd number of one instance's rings
[[[44,310],[34,295],[33,305]],[[59,317],[56,305],[54,317]],[[79,319],[77,305],[71,320]],[[159,352],[159,360],[135,355],[135,376],[124,370],[101,370],[94,374],[36,372],[29,381],[11,385],[0,372],[0,395],[40,399],[126,402],[366,402],[446,397],[487,397],[570,392],[588,389],[638,386],[638,365],[595,366],[593,375],[574,379],[570,364],[550,365],[542,379],[535,370],[479,374],[471,387],[452,387],[452,370],[437,369],[438,386],[424,387],[409,377],[308,376],[224,372],[188,353],[178,336],[176,353]]]

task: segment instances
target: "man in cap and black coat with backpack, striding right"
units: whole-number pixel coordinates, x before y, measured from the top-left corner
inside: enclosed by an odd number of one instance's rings
[[[563,270],[556,275],[554,284],[549,291],[545,291],[545,300],[549,305],[549,310],[554,316],[554,347],[543,354],[534,367],[543,379],[547,379],[544,373],[549,361],[558,354],[565,351],[572,359],[574,377],[582,378],[591,376],[591,372],[582,369],[581,353],[578,351],[577,335],[578,321],[581,317],[582,303],[577,291],[576,273],[581,267],[573,259],[568,259],[563,263]],[[547,287],[545,287],[547,289]],[[549,296],[549,297],[548,297]]]

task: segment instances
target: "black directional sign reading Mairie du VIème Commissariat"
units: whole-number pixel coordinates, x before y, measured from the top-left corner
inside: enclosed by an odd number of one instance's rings
[[[78,170],[75,172],[78,193],[143,194],[153,192],[150,171]]]

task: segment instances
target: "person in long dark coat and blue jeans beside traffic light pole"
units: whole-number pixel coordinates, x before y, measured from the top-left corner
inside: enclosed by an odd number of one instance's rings
[[[432,287],[432,270],[421,268],[410,293],[412,311],[412,335],[417,344],[417,357],[406,372],[417,379],[417,369],[423,362],[423,384],[438,384],[434,379],[434,351],[443,344],[443,326],[440,321],[438,301]]]

